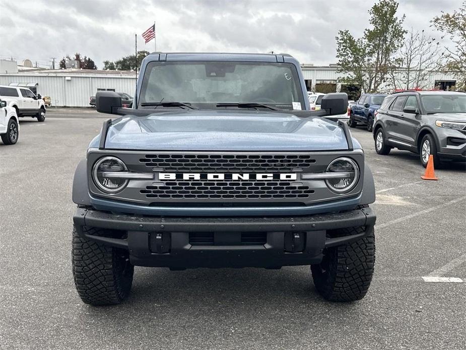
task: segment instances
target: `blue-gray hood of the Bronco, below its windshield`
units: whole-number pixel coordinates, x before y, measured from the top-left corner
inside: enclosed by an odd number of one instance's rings
[[[98,147],[99,137],[90,147]],[[353,140],[354,148],[360,148]],[[317,151],[345,150],[336,123],[289,113],[253,110],[182,110],[126,115],[109,127],[105,148],[132,150]]]

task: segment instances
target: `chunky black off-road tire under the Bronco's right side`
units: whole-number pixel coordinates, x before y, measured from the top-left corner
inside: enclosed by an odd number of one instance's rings
[[[329,232],[331,237],[360,234],[365,227],[351,227]],[[364,298],[374,272],[374,230],[353,243],[327,248],[322,262],[311,265],[318,293],[326,300],[353,302]]]

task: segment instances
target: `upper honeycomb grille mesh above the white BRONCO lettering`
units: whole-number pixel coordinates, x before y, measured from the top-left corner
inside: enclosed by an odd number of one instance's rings
[[[316,162],[307,154],[146,154],[139,161],[166,171],[290,171]]]

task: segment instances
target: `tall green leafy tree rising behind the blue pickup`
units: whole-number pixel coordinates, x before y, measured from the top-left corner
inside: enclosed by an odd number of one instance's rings
[[[356,39],[349,30],[340,30],[337,36],[337,58],[344,73],[343,83],[360,85],[364,92],[376,92],[387,81],[390,69],[396,65],[394,54],[403,43],[405,15],[396,16],[398,3],[380,0],[368,11],[371,28]]]

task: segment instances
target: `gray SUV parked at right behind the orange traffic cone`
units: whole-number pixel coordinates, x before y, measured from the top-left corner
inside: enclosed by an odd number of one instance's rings
[[[425,167],[445,159],[466,160],[466,93],[403,91],[383,100],[375,115],[373,136],[378,154],[390,149],[419,153]]]

